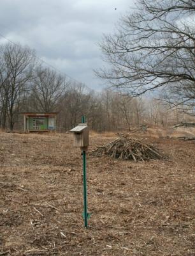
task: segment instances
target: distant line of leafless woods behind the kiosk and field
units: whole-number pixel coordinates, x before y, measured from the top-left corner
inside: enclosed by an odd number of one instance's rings
[[[95,131],[131,130],[142,124],[166,127],[184,120],[177,108],[168,108],[159,100],[133,98],[127,93],[94,92],[41,65],[29,47],[10,43],[0,47],[2,129],[22,129],[20,113],[25,111],[57,111],[59,131],[74,127],[82,115]]]

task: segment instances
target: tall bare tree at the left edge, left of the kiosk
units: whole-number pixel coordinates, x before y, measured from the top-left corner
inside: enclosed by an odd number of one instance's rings
[[[24,92],[29,89],[34,70],[34,52],[19,44],[5,44],[0,49],[0,92],[2,108],[2,126],[8,116],[10,129],[15,124],[15,106]]]

